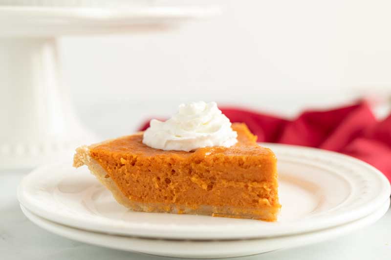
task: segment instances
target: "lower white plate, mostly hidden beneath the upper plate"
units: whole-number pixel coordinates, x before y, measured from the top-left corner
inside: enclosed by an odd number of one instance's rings
[[[387,212],[389,206],[390,199],[388,199],[383,205],[381,205],[379,209],[367,217],[355,220],[342,226],[333,227],[322,231],[269,239],[229,241],[153,240],[88,232],[45,220],[26,210],[23,208],[23,206],[21,207],[26,217],[38,226],[52,233],[73,240],[109,248],[136,251],[167,257],[225,258],[260,254],[276,249],[303,246],[306,244],[335,238],[372,224]]]

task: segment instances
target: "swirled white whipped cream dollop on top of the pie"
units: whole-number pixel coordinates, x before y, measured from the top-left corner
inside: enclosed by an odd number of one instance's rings
[[[179,105],[178,113],[162,122],[152,119],[143,143],[156,149],[192,151],[201,147],[234,145],[238,134],[216,102]]]

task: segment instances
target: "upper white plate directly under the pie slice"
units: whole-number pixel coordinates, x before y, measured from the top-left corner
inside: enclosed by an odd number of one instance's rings
[[[133,212],[87,167],[49,165],[26,176],[19,201],[34,214],[96,232],[165,239],[245,239],[299,234],[358,220],[390,197],[390,182],[360,160],[299,146],[267,144],[278,158],[277,222]]]

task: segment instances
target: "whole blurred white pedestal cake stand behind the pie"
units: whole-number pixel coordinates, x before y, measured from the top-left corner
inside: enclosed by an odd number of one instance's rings
[[[62,85],[57,36],[170,28],[184,20],[218,13],[216,7],[112,6],[119,0],[111,1],[109,7],[80,3],[78,7],[55,6],[54,0],[51,6],[4,6],[2,2],[2,169],[30,168],[63,156],[71,157],[75,147],[94,141],[94,135],[76,118]]]

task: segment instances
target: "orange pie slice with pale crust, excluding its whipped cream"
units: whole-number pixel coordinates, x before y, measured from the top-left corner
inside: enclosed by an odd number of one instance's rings
[[[132,210],[275,221],[281,208],[276,157],[245,124],[232,129],[235,145],[191,152],[151,148],[139,132],[79,147],[73,165],[87,165]]]

